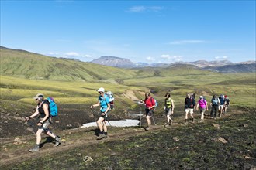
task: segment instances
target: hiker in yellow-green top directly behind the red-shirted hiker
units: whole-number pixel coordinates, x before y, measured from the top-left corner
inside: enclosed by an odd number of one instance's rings
[[[167,126],[170,126],[170,121],[172,123],[171,114],[174,113],[174,100],[171,99],[171,93],[165,94],[165,100],[164,100],[164,111],[167,117]]]

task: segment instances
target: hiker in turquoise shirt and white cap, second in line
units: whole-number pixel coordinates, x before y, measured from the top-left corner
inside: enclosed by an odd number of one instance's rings
[[[97,121],[97,125],[99,127],[99,136],[97,137],[98,140],[101,140],[102,138],[107,138],[108,137],[108,132],[107,132],[107,126],[106,126],[106,121],[108,117],[108,112],[110,110],[110,104],[109,104],[109,97],[105,93],[105,89],[100,87],[98,90],[99,93],[99,101],[97,104],[92,104],[90,108],[92,109],[93,107],[98,107],[100,106],[100,111],[101,111],[101,116],[99,117]]]

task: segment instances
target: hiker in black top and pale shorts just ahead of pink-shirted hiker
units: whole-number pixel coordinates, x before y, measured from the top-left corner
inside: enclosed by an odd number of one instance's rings
[[[193,117],[193,111],[195,111],[195,98],[191,96],[189,93],[187,97],[185,97],[185,124],[188,123],[188,114],[192,118],[192,122],[194,123],[195,119]]]

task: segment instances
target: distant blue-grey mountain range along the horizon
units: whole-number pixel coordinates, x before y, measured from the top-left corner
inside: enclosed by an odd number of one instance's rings
[[[206,61],[198,60],[194,62],[176,62],[176,63],[133,63],[130,59],[123,59],[116,56],[102,56],[99,59],[92,60],[91,63],[97,63],[105,66],[114,66],[119,68],[140,68],[140,67],[161,67],[168,68],[178,65],[192,65],[202,70],[211,70],[221,73],[247,73],[255,72],[256,62],[247,61],[242,63],[232,63],[228,60]]]

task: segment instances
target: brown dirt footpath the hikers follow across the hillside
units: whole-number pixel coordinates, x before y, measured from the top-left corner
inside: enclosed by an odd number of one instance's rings
[[[235,114],[243,114],[243,111],[237,111]],[[226,114],[225,117],[229,117],[230,115],[231,114]],[[57,134],[59,134],[62,138],[62,144],[56,148],[54,148],[54,141],[52,140],[52,138],[48,138],[47,135],[43,134],[40,151],[37,151],[35,153],[30,153],[28,151],[29,148],[32,148],[33,145],[35,145],[34,134],[26,135],[22,138],[15,139],[1,138],[0,168],[3,166],[17,164],[19,162],[24,162],[31,158],[40,158],[45,155],[61,151],[68,151],[70,149],[78,148],[81,146],[96,145],[99,142],[115,141],[122,138],[130,138],[137,135],[151,133],[154,131],[161,131],[163,128],[171,128],[171,131],[175,131],[175,127],[193,126],[192,123],[183,124],[184,117],[175,117],[175,121],[173,124],[171,124],[170,127],[164,127],[163,121],[165,121],[165,117],[155,117],[155,120],[160,124],[152,125],[150,131],[145,131],[145,129],[140,126],[130,128],[109,127],[109,138],[102,140],[96,140],[97,134],[99,132],[97,127],[75,128],[65,131],[57,131]],[[220,121],[221,117],[218,120]],[[197,121],[194,124],[202,124]],[[216,123],[216,120],[206,117],[205,124],[214,125],[214,123]]]

